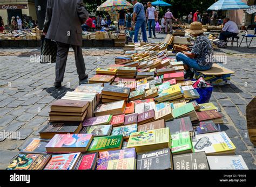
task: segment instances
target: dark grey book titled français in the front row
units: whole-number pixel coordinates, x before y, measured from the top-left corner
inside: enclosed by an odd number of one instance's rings
[[[137,155],[137,169],[173,169],[170,148],[153,150]]]

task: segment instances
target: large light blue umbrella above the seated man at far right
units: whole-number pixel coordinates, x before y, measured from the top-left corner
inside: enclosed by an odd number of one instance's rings
[[[240,0],[220,0],[213,3],[207,10],[248,9],[249,6]]]

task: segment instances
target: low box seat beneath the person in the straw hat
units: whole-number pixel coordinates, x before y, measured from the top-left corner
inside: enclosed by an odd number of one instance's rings
[[[212,68],[206,71],[194,71],[196,78],[203,77],[204,80],[212,85],[230,84],[231,74],[235,72],[223,67],[221,64],[214,63]]]

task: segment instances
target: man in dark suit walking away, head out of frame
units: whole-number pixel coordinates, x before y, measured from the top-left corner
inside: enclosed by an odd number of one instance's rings
[[[82,27],[89,14],[82,0],[48,0],[43,33],[57,43],[55,87],[62,86],[70,46],[75,52],[80,81],[88,78],[82,53]]]

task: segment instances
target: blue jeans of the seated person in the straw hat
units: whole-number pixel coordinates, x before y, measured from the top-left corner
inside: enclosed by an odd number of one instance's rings
[[[180,52],[176,54],[176,60],[183,61],[183,63],[186,64],[187,66],[193,68],[194,70],[199,70],[199,71],[205,71],[205,70],[211,69],[212,67],[212,65],[200,66],[196,60],[191,59],[187,55]]]

